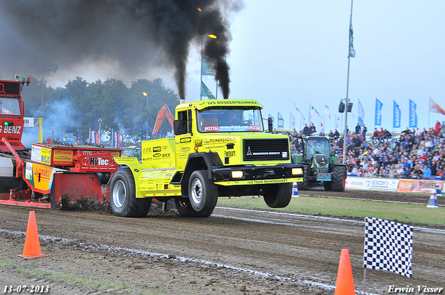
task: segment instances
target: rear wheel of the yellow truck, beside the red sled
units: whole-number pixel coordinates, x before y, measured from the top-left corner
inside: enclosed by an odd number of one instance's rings
[[[116,216],[145,217],[152,205],[152,199],[136,199],[133,174],[130,169],[124,168],[111,178],[110,205]]]

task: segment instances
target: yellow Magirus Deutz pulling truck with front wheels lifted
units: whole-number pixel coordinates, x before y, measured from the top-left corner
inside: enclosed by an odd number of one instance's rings
[[[142,142],[142,160],[115,157],[110,203],[121,217],[145,217],[152,199],[175,199],[183,217],[209,217],[220,196],[263,196],[284,208],[304,167],[291,160],[289,137],[265,132],[253,99],[209,99],[175,109],[175,138]]]

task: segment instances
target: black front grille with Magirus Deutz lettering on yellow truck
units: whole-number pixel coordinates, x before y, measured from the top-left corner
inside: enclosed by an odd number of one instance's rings
[[[257,160],[289,160],[289,144],[285,138],[267,140],[243,140],[243,159]]]

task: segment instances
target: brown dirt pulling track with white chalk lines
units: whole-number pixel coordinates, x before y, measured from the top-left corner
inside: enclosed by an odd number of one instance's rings
[[[339,196],[428,201],[426,194]],[[363,290],[362,221],[230,208],[216,208],[207,219],[162,210],[125,219],[36,209],[42,253],[49,256],[23,259],[17,254],[29,211],[0,207],[0,287],[49,285],[50,294],[334,294],[341,249],[348,248],[355,289]],[[445,287],[444,244],[444,230],[414,228],[413,277],[367,270],[366,292]]]

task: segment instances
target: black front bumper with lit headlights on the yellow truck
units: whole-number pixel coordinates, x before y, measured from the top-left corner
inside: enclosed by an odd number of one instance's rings
[[[302,182],[303,165],[242,166],[224,167],[211,170],[217,185],[257,185],[269,183]],[[235,177],[236,174],[241,177]]]

